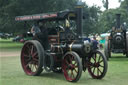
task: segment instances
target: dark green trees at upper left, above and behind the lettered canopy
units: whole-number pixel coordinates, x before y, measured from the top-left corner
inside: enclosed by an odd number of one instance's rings
[[[26,32],[16,16],[55,12],[74,8],[78,0],[0,0],[0,31]],[[36,3],[35,3],[36,2]],[[21,26],[22,25],[22,26]]]

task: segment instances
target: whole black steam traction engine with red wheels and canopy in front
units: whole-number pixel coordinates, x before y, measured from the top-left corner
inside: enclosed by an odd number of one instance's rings
[[[76,82],[87,68],[92,78],[105,76],[106,57],[82,38],[81,6],[75,11],[17,16],[15,20],[41,24],[41,32],[34,40],[26,41],[21,51],[21,64],[27,75],[37,76],[43,70],[63,72],[67,81]]]

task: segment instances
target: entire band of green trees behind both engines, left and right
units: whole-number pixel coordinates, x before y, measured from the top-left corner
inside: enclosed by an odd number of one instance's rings
[[[31,15],[47,12],[56,12],[66,9],[74,9],[78,0],[0,0],[0,32],[22,33],[29,28],[24,27],[23,22],[16,22],[16,16]],[[86,19],[83,22],[84,33],[102,33],[111,29],[114,25],[116,13],[122,14],[122,22],[128,23],[128,0],[119,0],[121,6],[117,9],[109,9],[109,0],[102,0],[104,12],[98,6],[88,7],[85,3],[84,13]]]

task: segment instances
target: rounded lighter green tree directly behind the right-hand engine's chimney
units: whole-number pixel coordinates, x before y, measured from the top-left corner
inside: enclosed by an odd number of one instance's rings
[[[116,14],[121,14],[121,24],[127,21],[127,11],[122,8],[117,9],[109,9],[103,12],[103,14],[99,18],[99,30],[101,32],[107,32],[112,29],[113,26],[116,25]],[[109,19],[107,19],[109,18]]]

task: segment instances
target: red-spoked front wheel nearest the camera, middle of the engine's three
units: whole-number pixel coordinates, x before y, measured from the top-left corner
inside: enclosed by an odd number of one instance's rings
[[[82,63],[79,55],[75,52],[66,53],[62,61],[62,70],[66,80],[77,82],[82,74]]]

